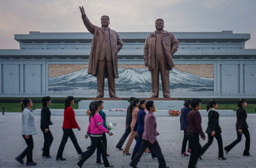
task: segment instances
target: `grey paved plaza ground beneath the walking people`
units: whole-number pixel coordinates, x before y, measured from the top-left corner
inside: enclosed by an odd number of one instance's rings
[[[156,112],[157,113],[157,112]],[[77,129],[74,130],[78,144],[82,150],[86,150],[86,147],[90,146],[90,139],[85,139],[84,135],[87,130],[87,125],[89,117],[87,116],[77,116],[76,120],[81,127],[81,131]],[[123,155],[121,150],[116,150],[115,146],[118,140],[122,137],[125,131],[125,117],[108,117],[107,122],[116,122],[117,126],[113,130],[114,136],[107,135],[107,152],[110,155],[108,157],[109,163],[115,165],[115,167],[130,167],[131,155]],[[189,157],[181,156],[181,144],[183,139],[183,131],[180,131],[180,117],[157,117],[157,131],[160,135],[157,137],[159,145],[162,148],[166,164],[169,167],[181,168],[187,167]],[[218,159],[218,145],[217,140],[214,139],[213,144],[205,154],[202,156],[202,161],[199,160],[198,167],[222,167],[222,168],[255,168],[256,167],[256,115],[248,114],[247,123],[249,124],[249,131],[251,134],[251,148],[250,153],[253,155],[243,156],[243,150],[245,147],[245,137],[243,136],[242,141],[235,146],[229,153],[225,154],[227,160]],[[41,148],[43,147],[43,133],[40,130],[40,116],[35,116],[36,130],[38,135],[33,136],[34,139],[34,150],[33,157],[34,162],[37,166],[31,167],[74,167],[78,162],[78,156],[73,146],[71,140],[69,139],[65,150],[63,152],[63,157],[66,161],[56,161],[55,157],[57,154],[58,147],[62,138],[62,122],[63,116],[51,116],[51,121],[53,125],[50,126],[50,130],[53,135],[53,144],[50,148],[50,154],[52,158],[42,158]],[[0,115],[0,167],[24,167],[25,165],[20,165],[14,160],[15,156],[18,156],[23,149],[26,148],[25,140],[21,137],[21,113],[5,113],[5,115]],[[220,126],[222,128],[222,139],[223,146],[229,145],[236,139],[236,117],[221,117],[220,116]],[[202,117],[202,127],[206,130],[207,127],[207,117]],[[207,136],[206,136],[207,137]],[[127,139],[126,139],[127,141]],[[126,144],[125,141],[125,144]],[[206,144],[205,141],[200,140],[201,145]],[[125,147],[125,144],[123,148]],[[130,153],[133,152],[135,146],[135,140],[130,148]],[[26,158],[25,158],[26,162]],[[95,153],[87,159],[83,167],[102,167],[103,165],[96,165],[96,155]],[[138,164],[140,168],[153,168],[158,167],[157,159],[152,159],[149,154],[143,155]]]

